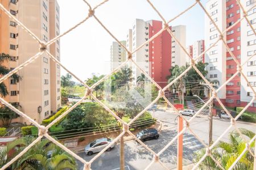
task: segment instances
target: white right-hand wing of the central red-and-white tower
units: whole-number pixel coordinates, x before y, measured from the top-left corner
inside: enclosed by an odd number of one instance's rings
[[[172,33],[181,45],[186,46],[186,26],[177,25],[171,28]],[[180,47],[179,44],[172,39],[172,66],[185,66],[186,64],[186,53]]]

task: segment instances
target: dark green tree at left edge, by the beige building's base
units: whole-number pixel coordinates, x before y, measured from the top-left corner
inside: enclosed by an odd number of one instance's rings
[[[20,108],[19,105],[14,105],[14,107],[18,109]],[[17,117],[19,117],[19,114],[15,113],[9,107],[6,107],[6,105],[2,105],[0,107],[0,120],[3,127],[7,128],[10,125],[11,120]]]

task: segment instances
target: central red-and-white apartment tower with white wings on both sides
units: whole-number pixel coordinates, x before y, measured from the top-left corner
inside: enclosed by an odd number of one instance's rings
[[[159,20],[144,21],[142,19],[136,19],[133,29],[129,29],[127,33],[126,47],[129,50],[135,50],[162,28],[163,23]],[[173,28],[170,27],[172,31]],[[173,32],[175,32],[174,34],[176,34],[175,36],[177,36],[181,44],[185,45],[185,39],[183,40],[183,37],[185,37],[185,27],[183,25],[176,26]],[[167,84],[166,76],[170,75],[169,69],[172,64],[185,65],[185,59],[184,62],[180,62],[180,58],[184,57],[180,52],[179,46],[172,47],[172,44],[175,44],[175,41],[172,42],[170,33],[163,31],[154,40],[133,54],[134,61],[162,87]],[[175,50],[175,52],[172,53],[172,50]],[[173,62],[172,56],[176,57],[176,60],[174,57]],[[139,75],[141,75],[141,71],[133,65],[133,76],[135,78],[133,84],[136,84]]]

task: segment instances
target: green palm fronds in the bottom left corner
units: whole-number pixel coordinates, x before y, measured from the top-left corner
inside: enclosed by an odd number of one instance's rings
[[[26,136],[9,143],[0,150],[0,167],[30,145],[34,137]],[[23,154],[10,169],[76,169],[75,159],[48,139],[42,139]]]

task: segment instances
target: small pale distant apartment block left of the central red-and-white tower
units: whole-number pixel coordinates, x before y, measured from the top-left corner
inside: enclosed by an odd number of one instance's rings
[[[126,46],[126,41],[120,41],[121,44]],[[122,64],[122,62],[126,61],[126,50],[118,44],[118,42],[112,42],[110,46],[110,69],[113,71],[118,66]]]

